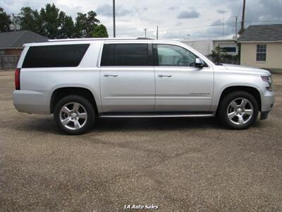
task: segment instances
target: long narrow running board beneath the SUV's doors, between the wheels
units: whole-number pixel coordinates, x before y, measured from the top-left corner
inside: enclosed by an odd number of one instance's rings
[[[101,118],[214,117],[214,114],[102,114]]]

